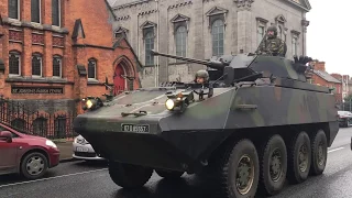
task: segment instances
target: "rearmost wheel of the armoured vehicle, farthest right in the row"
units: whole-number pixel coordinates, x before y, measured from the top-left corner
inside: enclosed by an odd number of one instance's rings
[[[328,141],[326,133],[319,130],[311,142],[311,175],[321,175],[328,158]]]

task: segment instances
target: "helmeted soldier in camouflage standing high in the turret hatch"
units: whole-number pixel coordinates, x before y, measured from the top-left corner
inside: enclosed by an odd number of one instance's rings
[[[286,43],[277,37],[277,28],[272,25],[267,29],[266,37],[260,44],[256,53],[285,57],[286,51]]]

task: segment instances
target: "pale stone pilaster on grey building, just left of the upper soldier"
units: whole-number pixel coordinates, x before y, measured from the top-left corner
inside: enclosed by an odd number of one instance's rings
[[[233,0],[238,8],[238,53],[249,53],[252,42],[252,3],[254,0]]]

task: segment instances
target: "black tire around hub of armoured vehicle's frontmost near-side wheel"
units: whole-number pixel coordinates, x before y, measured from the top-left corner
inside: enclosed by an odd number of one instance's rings
[[[232,144],[233,145],[233,144]],[[242,156],[248,155],[254,165],[252,185],[245,194],[240,194],[235,188],[238,165]],[[234,177],[233,177],[234,176]],[[248,198],[256,194],[260,177],[260,164],[254,144],[250,140],[241,140],[234,146],[230,146],[221,156],[217,168],[218,196],[224,198]]]

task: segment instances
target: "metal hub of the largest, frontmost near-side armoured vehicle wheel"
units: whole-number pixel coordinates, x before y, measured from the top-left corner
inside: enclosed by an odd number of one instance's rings
[[[243,155],[238,164],[235,187],[241,195],[248,194],[254,182],[254,163],[249,155]]]

